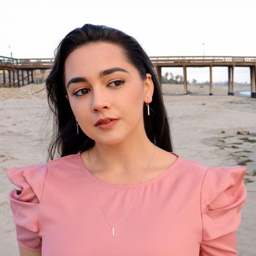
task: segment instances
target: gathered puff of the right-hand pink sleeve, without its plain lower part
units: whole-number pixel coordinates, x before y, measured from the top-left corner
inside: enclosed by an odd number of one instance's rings
[[[247,202],[243,166],[218,166],[207,169],[201,187],[203,240],[237,230],[241,208]]]

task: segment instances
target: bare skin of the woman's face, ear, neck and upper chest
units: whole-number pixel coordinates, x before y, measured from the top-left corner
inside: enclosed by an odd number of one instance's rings
[[[102,70],[114,67],[126,72],[99,76]],[[70,82],[78,77],[86,81]],[[90,149],[95,177],[112,184],[140,183],[154,152],[154,145],[148,140],[143,124],[143,104],[150,104],[154,92],[151,75],[146,74],[143,80],[121,47],[100,42],[71,52],[65,61],[64,78],[66,97],[76,120],[82,131],[95,140]],[[119,120],[106,130],[95,127],[97,120],[105,116]],[[91,172],[88,152],[82,152],[81,158]],[[175,155],[156,147],[144,182],[160,175],[176,159]]]

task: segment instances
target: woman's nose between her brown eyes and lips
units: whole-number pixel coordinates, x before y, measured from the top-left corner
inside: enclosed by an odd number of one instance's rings
[[[93,112],[99,112],[110,108],[109,97],[106,95],[106,92],[100,89],[93,90],[91,108]]]

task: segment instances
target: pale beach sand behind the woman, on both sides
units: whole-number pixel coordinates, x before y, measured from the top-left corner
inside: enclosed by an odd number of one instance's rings
[[[40,90],[44,84],[33,86]],[[32,95],[32,85],[20,88],[0,88],[0,255],[18,256],[15,224],[9,207],[9,192],[15,188],[6,177],[6,169],[45,163],[46,143],[42,137],[48,108],[45,90]],[[247,174],[247,204],[237,231],[238,255],[253,256],[256,239],[256,99],[241,96],[238,91],[250,87],[235,87],[235,96],[227,96],[227,87],[188,87],[163,85],[163,97],[171,124],[174,152],[206,166],[244,165]],[[44,128],[41,128],[44,127]],[[249,131],[239,135],[237,131]],[[184,143],[186,142],[186,143]]]

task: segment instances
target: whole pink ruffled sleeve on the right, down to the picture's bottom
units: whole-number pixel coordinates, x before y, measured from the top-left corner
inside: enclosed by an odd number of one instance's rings
[[[203,224],[200,256],[235,256],[236,230],[247,192],[243,183],[246,168],[209,168],[201,189]]]

